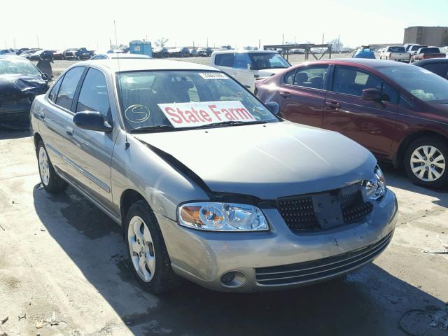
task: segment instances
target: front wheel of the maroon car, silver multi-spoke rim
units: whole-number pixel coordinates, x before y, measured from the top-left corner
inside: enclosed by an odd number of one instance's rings
[[[444,139],[423,137],[412,142],[405,153],[407,176],[419,186],[442,188],[448,185],[448,146]]]

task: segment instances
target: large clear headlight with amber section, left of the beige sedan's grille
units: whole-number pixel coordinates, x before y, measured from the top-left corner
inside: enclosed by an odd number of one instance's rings
[[[178,209],[179,224],[211,231],[269,230],[265,215],[258,207],[235,203],[188,203]]]

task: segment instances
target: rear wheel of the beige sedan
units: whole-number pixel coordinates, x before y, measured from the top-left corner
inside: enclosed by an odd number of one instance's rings
[[[37,144],[37,163],[39,168],[39,176],[41,176],[41,183],[43,188],[48,193],[59,194],[63,193],[67,188],[67,183],[56,174],[55,168],[51,164],[48,157],[47,149],[42,141]]]

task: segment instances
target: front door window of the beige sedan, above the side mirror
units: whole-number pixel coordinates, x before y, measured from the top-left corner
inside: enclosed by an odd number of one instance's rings
[[[90,68],[79,92],[76,112],[97,111],[107,117],[109,107],[106,78],[101,71]]]

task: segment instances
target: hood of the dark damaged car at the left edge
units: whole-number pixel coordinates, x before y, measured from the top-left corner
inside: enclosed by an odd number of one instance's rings
[[[40,76],[7,74],[0,75],[0,101],[11,95],[29,95],[45,93],[47,82]]]

